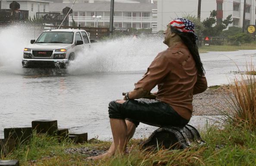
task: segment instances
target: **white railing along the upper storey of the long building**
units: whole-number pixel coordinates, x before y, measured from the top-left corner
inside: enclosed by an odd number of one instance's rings
[[[94,21],[94,18],[91,16],[73,16],[75,21]],[[102,17],[101,20],[109,21],[110,17]],[[157,21],[157,18],[152,17],[114,17],[114,21]],[[72,17],[69,17],[69,21],[72,21]],[[100,20],[98,20],[100,22]]]

